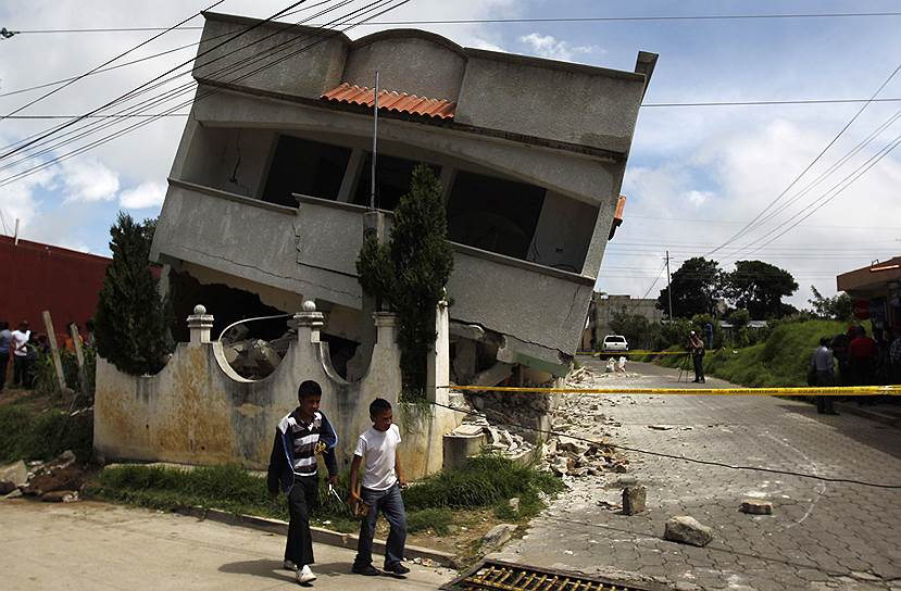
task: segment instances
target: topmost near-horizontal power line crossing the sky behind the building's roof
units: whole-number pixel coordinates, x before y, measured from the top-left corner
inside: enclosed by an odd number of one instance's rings
[[[384,25],[476,25],[504,23],[620,23],[620,22],[667,22],[667,21],[765,21],[791,18],[867,18],[901,16],[901,12],[824,12],[787,14],[694,14],[694,15],[649,15],[649,16],[560,16],[548,18],[450,18],[418,21],[375,21],[359,23],[359,26]],[[346,23],[340,23],[346,24]],[[317,25],[314,25],[317,26]],[[182,30],[203,27],[182,27]],[[140,33],[162,30],[161,27],[93,27],[93,28],[43,28],[11,30],[13,35],[48,35],[73,33]]]

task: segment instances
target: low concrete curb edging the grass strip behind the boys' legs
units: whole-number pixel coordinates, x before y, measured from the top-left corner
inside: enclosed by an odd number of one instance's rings
[[[233,526],[240,526],[250,529],[256,529],[268,533],[278,536],[288,535],[288,523],[281,519],[268,519],[266,517],[256,517],[253,515],[239,515],[220,511],[217,508],[204,508],[193,506],[190,508],[182,508],[176,511],[180,515],[197,517],[198,519],[210,519],[220,524],[227,524]],[[321,527],[310,527],[310,532],[313,535],[313,541],[321,544],[335,545],[338,548],[346,548],[348,550],[356,550],[356,536],[353,533],[340,533],[324,529]],[[373,552],[376,554],[385,553],[385,541],[373,540]],[[438,550],[430,550],[427,548],[420,548],[415,545],[406,545],[404,555],[408,558],[428,558],[435,561],[440,566],[456,568],[456,558],[453,554],[440,552]]]

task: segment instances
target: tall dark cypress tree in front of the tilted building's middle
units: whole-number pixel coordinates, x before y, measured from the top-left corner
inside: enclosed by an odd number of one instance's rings
[[[379,244],[370,236],[356,272],[363,291],[398,314],[398,345],[408,400],[422,398],[426,353],[435,343],[435,309],[453,271],[441,184],[431,168],[413,169],[410,193],[395,209],[391,237]]]

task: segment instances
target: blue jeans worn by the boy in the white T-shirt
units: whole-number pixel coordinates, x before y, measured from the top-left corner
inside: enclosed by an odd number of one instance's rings
[[[353,566],[363,567],[373,564],[373,536],[375,521],[380,511],[391,531],[385,549],[385,567],[400,563],[403,559],[403,546],[406,543],[406,511],[403,508],[403,499],[400,495],[400,486],[395,483],[387,490],[361,489],[360,496],[370,505],[370,513],[360,524],[360,541],[356,544],[356,558]]]

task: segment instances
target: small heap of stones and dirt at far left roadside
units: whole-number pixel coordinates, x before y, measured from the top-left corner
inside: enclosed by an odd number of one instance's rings
[[[71,503],[78,500],[85,473],[72,451],[50,462],[16,462],[0,466],[0,491],[4,498],[37,496],[42,501]]]

